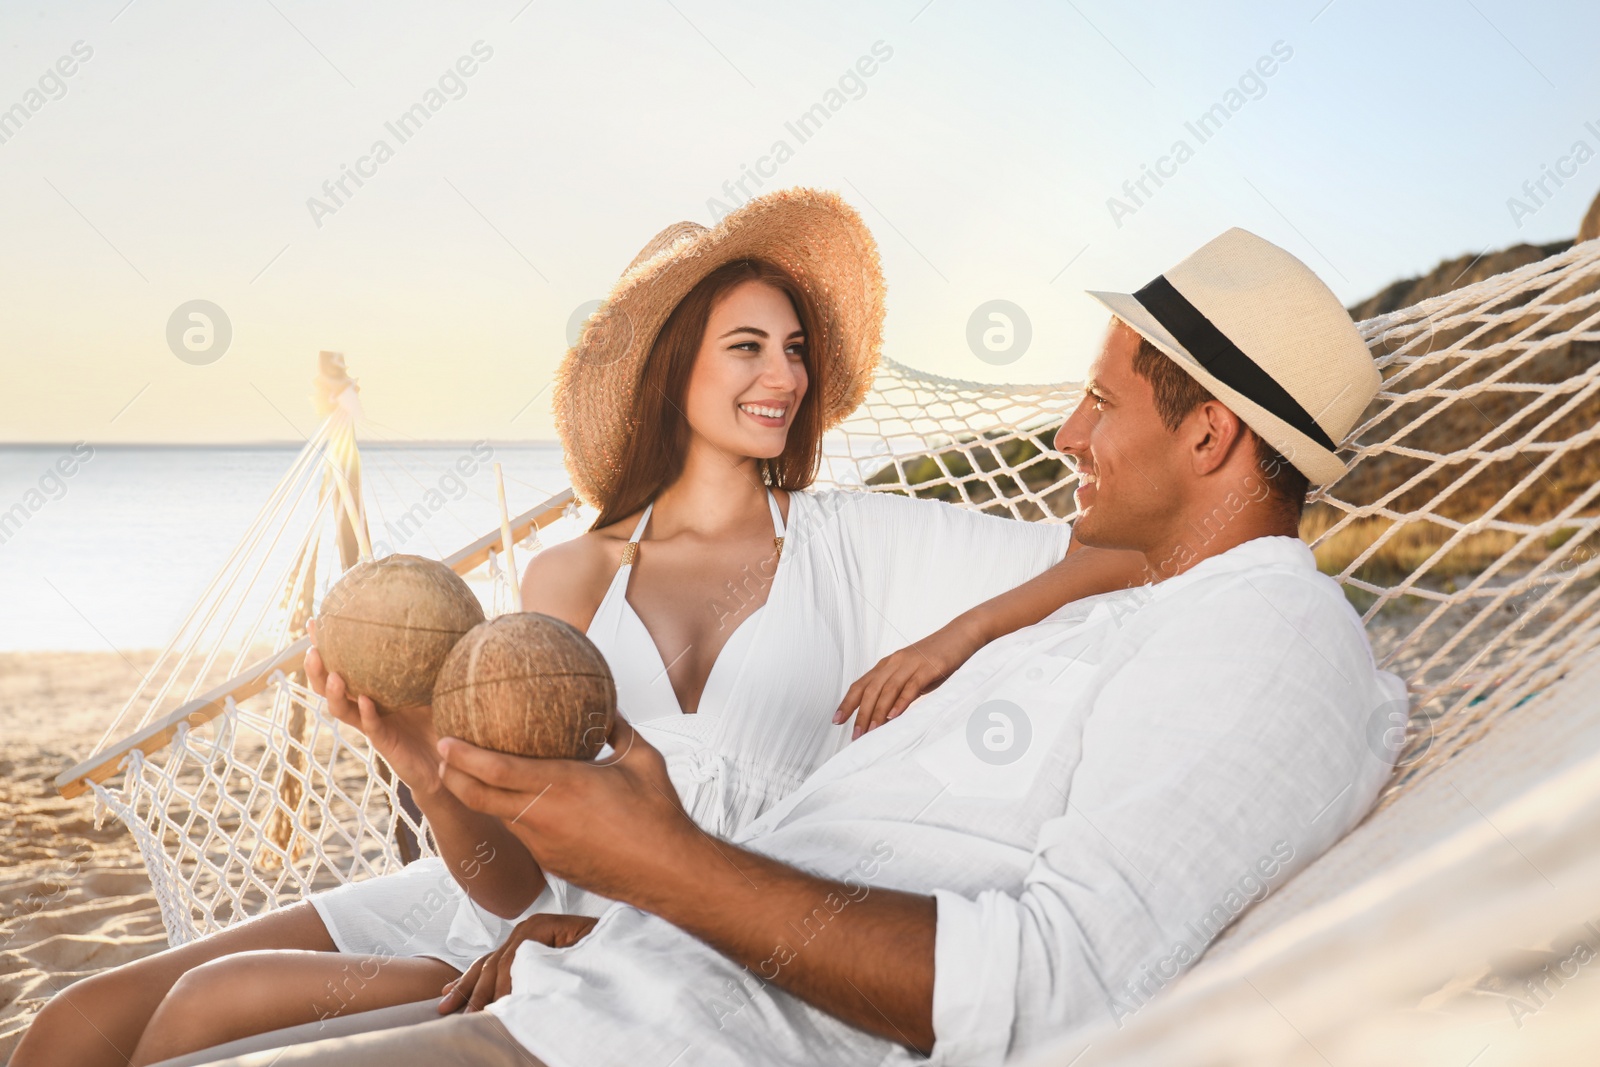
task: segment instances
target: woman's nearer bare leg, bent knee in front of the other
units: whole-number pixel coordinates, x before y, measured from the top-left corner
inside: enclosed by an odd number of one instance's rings
[[[202,963],[173,985],[133,1067],[242,1037],[438,997],[461,971],[421,957],[242,952]]]

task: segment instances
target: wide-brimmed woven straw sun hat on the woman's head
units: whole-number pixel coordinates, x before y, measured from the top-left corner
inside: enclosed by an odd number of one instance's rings
[[[634,258],[555,374],[555,430],[586,504],[603,504],[622,474],[634,397],[661,326],[690,290],[734,259],[773,262],[811,298],[806,346],[827,371],[822,395],[808,392],[805,402],[822,405],[824,429],[867,395],[883,336],[883,270],[854,208],[830,192],[786,189],[712,229],[677,222]]]

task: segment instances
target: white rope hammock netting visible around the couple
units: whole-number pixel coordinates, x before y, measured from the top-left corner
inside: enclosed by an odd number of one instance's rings
[[[1382,805],[1600,645],[1597,323],[1600,242],[1360,323],[1384,389],[1346,442],[1350,474],[1312,498],[1302,533],[1363,613],[1379,661],[1411,688],[1411,741]],[[1077,398],[1072,384],[982,386],[886,362],[862,408],[827,437],[821,482],[1067,520],[1074,475],[1048,440]],[[392,774],[299,672],[312,600],[341,573],[352,536],[370,550],[357,416],[352,392],[152,685],[98,757],[61,779],[72,790],[99,765],[88,787],[133,830],[173,944],[432,853]],[[581,518],[568,501],[514,523],[523,552],[538,550],[538,528]],[[491,614],[512,608],[499,547],[493,530],[448,557],[475,577],[488,568]],[[218,696],[229,691],[237,697]],[[205,707],[208,696],[218,699]],[[174,709],[182,721],[162,731]],[[141,733],[144,750],[107,744]],[[1314,865],[1296,886],[1310,902],[1315,878]]]

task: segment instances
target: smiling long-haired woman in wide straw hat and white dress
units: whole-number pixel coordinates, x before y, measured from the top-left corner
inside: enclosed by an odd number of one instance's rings
[[[848,744],[835,707],[859,705],[858,731],[875,725],[965,659],[986,627],[1138,581],[1118,553],[1074,552],[1002,608],[968,611],[1061,561],[1066,528],[800,491],[822,432],[870,386],[882,315],[859,216],[837,197],[790,190],[714,230],[662,232],[563,362],[557,427],[573,486],[600,517],[534,557],[523,606],[587,630],[622,713],[664,752],[709,833],[733,833]],[[502,824],[440,789],[427,709],[379,717],[366,697],[352,707],[315,654],[307,672],[411,785],[440,857],[86,979],[46,1006],[16,1067],[122,1064],[128,1053],[149,1064],[422,1000],[514,929],[555,945],[587,931],[581,917],[603,901],[547,881]],[[867,685],[840,707],[856,678]],[[472,969],[442,1009],[469,995],[480,1006],[498,969]]]

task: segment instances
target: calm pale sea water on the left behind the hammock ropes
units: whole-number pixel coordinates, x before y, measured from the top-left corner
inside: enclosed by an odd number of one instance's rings
[[[298,451],[0,446],[0,649],[165,646]],[[566,488],[554,443],[362,445],[374,545],[438,558],[498,530],[494,461],[512,515]]]

